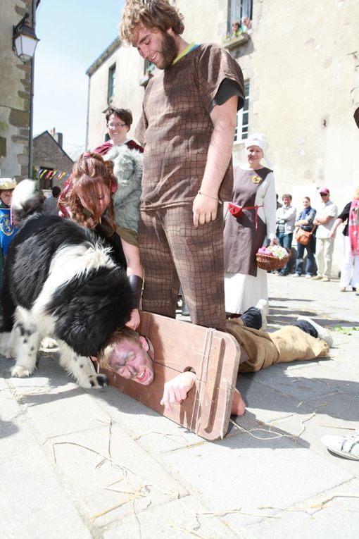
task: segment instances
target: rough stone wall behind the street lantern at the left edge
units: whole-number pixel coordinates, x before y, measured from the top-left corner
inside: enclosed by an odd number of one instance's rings
[[[32,0],[1,0],[0,18],[0,175],[28,176],[31,61],[12,49],[13,25],[30,13]]]

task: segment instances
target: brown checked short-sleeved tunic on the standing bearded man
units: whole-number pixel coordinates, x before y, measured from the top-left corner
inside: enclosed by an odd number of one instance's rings
[[[135,136],[146,144],[141,209],[192,204],[206,167],[213,123],[210,111],[220,102],[225,80],[236,83],[243,106],[243,77],[238,63],[218,44],[201,44],[153,77],[144,95]],[[232,195],[232,160],[220,198]]]

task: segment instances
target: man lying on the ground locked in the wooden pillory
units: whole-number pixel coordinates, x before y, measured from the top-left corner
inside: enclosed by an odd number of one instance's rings
[[[270,365],[327,357],[332,337],[325,328],[306,316],[298,316],[294,326],[284,326],[273,333],[260,330],[267,302],[251,307],[241,318],[227,320],[227,333],[235,337],[241,346],[239,373],[259,371]],[[149,385],[153,382],[153,347],[147,337],[130,328],[118,330],[97,358],[103,368],[117,372],[127,380]],[[165,383],[160,401],[165,409],[180,404],[194,385],[196,373],[186,371]],[[246,404],[241,394],[234,390],[232,414],[243,415]]]

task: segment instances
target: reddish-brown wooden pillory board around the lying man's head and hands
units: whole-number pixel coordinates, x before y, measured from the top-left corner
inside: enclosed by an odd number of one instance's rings
[[[153,344],[153,383],[140,385],[113,371],[101,371],[111,385],[206,440],[224,438],[240,357],[234,337],[147,312],[141,313],[139,333]],[[187,399],[172,406],[172,411],[165,410],[160,405],[165,382],[190,368],[196,372],[196,381]]]

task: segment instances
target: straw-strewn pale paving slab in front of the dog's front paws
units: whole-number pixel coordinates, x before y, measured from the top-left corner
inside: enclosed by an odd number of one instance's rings
[[[96,526],[131,514],[133,506],[141,512],[188,493],[110,418],[99,418],[92,430],[48,440],[46,448]]]

